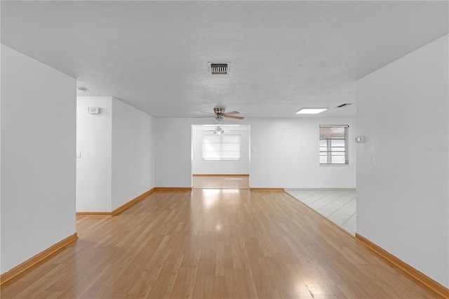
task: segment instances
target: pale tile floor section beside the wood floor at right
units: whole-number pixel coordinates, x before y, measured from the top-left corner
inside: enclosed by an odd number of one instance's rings
[[[286,189],[295,199],[340,225],[352,235],[356,234],[356,191],[295,190]]]

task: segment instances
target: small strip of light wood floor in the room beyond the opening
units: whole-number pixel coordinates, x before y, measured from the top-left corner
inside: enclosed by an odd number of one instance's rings
[[[249,189],[249,175],[193,175],[194,188]]]

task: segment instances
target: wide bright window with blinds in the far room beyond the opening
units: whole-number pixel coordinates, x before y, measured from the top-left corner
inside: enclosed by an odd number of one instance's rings
[[[203,160],[240,160],[240,135],[203,135]]]

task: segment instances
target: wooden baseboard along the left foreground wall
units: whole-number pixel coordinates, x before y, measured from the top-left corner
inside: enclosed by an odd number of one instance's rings
[[[63,248],[65,248],[65,246],[71,244],[72,242],[76,241],[76,239],[78,239],[78,234],[76,234],[75,232],[71,236],[62,239],[53,246],[48,247],[41,253],[34,255],[32,258],[29,258],[28,260],[25,260],[25,262],[21,263],[20,265],[13,267],[13,269],[5,272],[4,274],[1,274],[0,285],[6,283],[6,281],[11,281],[11,279],[14,279],[15,277],[18,277],[19,274],[25,272],[26,270],[38,264],[42,260],[50,258],[51,255],[58,253],[58,251],[62,250]]]

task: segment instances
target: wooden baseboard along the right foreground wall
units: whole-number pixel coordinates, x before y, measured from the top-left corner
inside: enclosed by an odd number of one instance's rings
[[[387,260],[387,262],[389,262],[390,264],[398,267],[399,270],[405,272],[406,275],[411,279],[414,279],[420,284],[426,286],[431,291],[438,293],[438,295],[442,295],[443,298],[449,298],[449,288],[445,288],[445,286],[439,284],[437,281],[434,281],[434,279],[431,279],[426,274],[420,272],[419,270],[416,270],[414,267],[403,262],[403,260],[396,258],[396,256],[392,255],[388,251],[384,250],[384,248],[377,246],[372,241],[361,236],[361,234],[356,233],[356,240],[358,240],[359,242],[361,242],[361,244],[370,248],[370,250],[379,255],[380,258],[383,258],[384,260]]]

